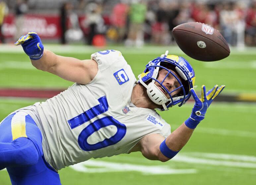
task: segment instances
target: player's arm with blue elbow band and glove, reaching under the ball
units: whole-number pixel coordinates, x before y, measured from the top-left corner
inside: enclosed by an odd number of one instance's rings
[[[191,93],[195,99],[195,105],[190,117],[166,139],[160,134],[146,135],[139,141],[132,152],[141,151],[144,157],[162,162],[173,158],[188,142],[193,130],[204,119],[206,110],[213,99],[222,92],[224,87],[220,86],[218,88],[218,85],[216,85],[206,93],[205,86],[202,86],[201,98],[196,95],[194,89],[191,89]]]

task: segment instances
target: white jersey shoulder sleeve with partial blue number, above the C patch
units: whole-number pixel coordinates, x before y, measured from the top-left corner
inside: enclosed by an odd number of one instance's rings
[[[100,71],[105,70],[106,68],[117,62],[123,62],[124,64],[127,64],[121,52],[117,50],[105,50],[101,52],[96,52],[91,55],[91,59],[97,62],[98,69]]]

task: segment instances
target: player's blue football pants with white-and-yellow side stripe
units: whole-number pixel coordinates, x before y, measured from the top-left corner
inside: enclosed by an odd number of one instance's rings
[[[45,161],[42,134],[30,115],[16,112],[0,124],[0,170],[12,185],[60,185],[59,174]]]

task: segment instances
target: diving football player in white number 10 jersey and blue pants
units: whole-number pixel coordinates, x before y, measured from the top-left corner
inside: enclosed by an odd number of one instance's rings
[[[150,160],[168,161],[225,87],[206,92],[202,86],[199,98],[192,66],[168,52],[150,61],[137,81],[116,50],[94,53],[87,60],[59,56],[44,50],[35,32],[15,44],[21,44],[37,69],[75,84],[1,122],[0,169],[7,168],[12,184],[60,184],[57,172],[65,166],[136,151]],[[171,133],[155,109],[182,106],[191,94],[191,115]]]

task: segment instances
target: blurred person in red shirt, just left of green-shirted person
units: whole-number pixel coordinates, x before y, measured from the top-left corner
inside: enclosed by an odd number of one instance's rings
[[[119,3],[114,5],[110,19],[111,24],[114,26],[114,29],[117,33],[116,40],[118,42],[124,39],[124,35],[126,34],[126,22],[127,15],[129,12],[129,6],[125,3],[124,0],[120,0]]]

